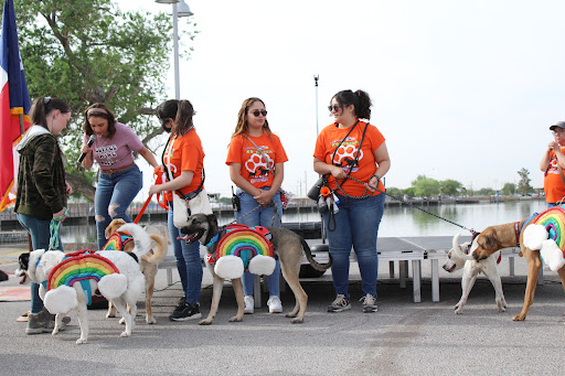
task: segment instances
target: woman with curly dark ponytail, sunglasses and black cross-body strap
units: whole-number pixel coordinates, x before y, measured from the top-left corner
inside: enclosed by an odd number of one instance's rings
[[[385,198],[381,179],[388,171],[391,160],[383,135],[375,126],[360,120],[371,117],[371,98],[365,92],[339,92],[329,109],[334,122],[322,129],[313,153],[313,170],[328,178],[329,187],[338,198],[335,203],[339,201],[339,211],[330,205],[323,213],[337,294],[328,312],[351,309],[352,247],[361,271],[363,312],[376,312],[376,236]]]

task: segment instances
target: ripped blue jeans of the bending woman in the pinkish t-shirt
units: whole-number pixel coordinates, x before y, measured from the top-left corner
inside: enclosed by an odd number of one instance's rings
[[[98,173],[98,184],[94,195],[98,249],[102,249],[107,241],[104,232],[111,219],[121,218],[131,222],[126,211],[142,186],[143,174],[137,164],[113,174],[102,171]]]

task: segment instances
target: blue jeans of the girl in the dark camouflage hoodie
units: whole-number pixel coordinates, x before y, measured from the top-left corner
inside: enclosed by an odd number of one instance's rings
[[[18,222],[31,235],[31,245],[33,249],[49,249],[49,239],[51,233],[49,226],[51,219],[39,219],[31,215],[17,214]],[[63,250],[63,243],[61,243],[61,233],[58,234],[58,248]],[[43,301],[40,298],[40,286],[31,282],[31,313],[38,314],[43,310]]]

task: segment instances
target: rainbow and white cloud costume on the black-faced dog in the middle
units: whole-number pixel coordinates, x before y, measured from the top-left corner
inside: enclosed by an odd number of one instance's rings
[[[244,270],[270,276],[275,270],[270,233],[263,226],[230,225],[220,240],[216,235],[206,247],[216,241],[215,253],[207,254],[206,260],[214,265],[214,272],[221,278],[241,278]]]

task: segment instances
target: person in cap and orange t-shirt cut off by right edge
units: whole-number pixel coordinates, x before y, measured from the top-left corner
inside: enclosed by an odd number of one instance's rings
[[[565,197],[565,183],[559,173],[565,168],[565,121],[550,127],[554,140],[547,144],[547,150],[540,162],[540,170],[545,173],[543,190],[547,208],[562,203]]]

